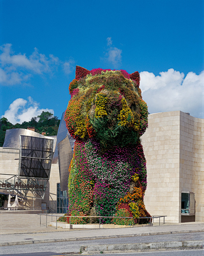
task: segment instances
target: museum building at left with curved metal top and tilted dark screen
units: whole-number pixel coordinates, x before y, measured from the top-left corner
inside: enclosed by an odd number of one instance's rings
[[[35,206],[41,206],[55,144],[56,136],[47,137],[26,129],[7,130],[0,151],[0,193],[17,194],[24,206],[33,206],[34,201]]]

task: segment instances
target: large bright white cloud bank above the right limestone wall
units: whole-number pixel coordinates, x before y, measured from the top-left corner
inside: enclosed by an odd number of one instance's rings
[[[185,77],[171,68],[159,76],[147,71],[140,76],[142,97],[149,113],[181,110],[204,118],[204,71],[199,75],[189,72]]]

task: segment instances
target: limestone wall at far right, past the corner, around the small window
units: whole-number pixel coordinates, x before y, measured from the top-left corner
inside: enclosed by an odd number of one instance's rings
[[[180,192],[182,190],[195,193],[195,221],[204,221],[204,119],[180,112]]]

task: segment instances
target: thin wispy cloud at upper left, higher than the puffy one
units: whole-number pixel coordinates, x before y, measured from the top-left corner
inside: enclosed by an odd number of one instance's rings
[[[53,54],[49,54],[46,57],[45,54],[39,53],[37,48],[34,48],[34,52],[30,56],[26,54],[15,54],[11,49],[12,44],[4,44],[0,46],[0,82],[2,85],[15,85],[26,83],[33,75],[45,75],[47,73],[52,74],[58,66],[62,66],[69,63],[69,70],[72,70],[72,62],[62,62],[58,57]],[[67,69],[64,69],[66,74]]]

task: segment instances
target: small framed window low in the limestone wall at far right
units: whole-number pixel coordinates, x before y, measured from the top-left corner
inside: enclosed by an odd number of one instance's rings
[[[181,192],[181,215],[195,215],[195,194],[193,192]]]

